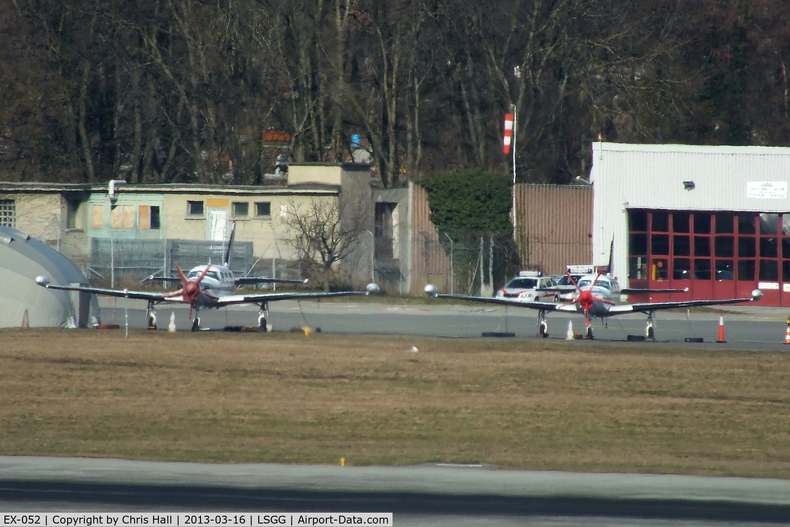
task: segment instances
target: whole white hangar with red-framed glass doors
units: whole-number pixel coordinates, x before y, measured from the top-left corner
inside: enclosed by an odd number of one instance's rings
[[[626,287],[690,290],[654,300],[788,306],[788,179],[790,148],[593,143],[593,263],[613,248]]]

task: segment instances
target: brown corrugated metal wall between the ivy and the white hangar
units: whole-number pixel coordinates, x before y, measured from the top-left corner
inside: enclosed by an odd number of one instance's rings
[[[592,263],[592,187],[516,185],[522,267],[561,274]]]

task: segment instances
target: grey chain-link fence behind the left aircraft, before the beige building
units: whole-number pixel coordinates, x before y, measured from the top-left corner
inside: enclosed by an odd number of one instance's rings
[[[141,240],[91,238],[88,278],[111,287],[139,282],[149,276],[178,276],[175,263],[184,272],[206,263],[224,263],[227,242],[203,240]],[[299,264],[277,258],[257,260],[251,241],[235,241],[231,271],[236,276],[301,279]]]

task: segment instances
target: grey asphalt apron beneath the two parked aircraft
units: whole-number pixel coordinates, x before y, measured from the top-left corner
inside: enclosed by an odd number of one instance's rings
[[[145,329],[145,308],[139,301],[100,299],[104,324],[118,324],[121,332],[128,313],[130,329]],[[391,304],[365,301],[282,301],[273,302],[269,311],[272,331],[310,331],[367,335],[420,335],[439,338],[482,338],[486,334],[513,334],[517,339],[542,340],[537,336],[536,312],[532,309],[504,306],[453,305],[445,302],[428,304]],[[177,331],[189,331],[189,309],[161,305],[157,311],[157,331],[167,331],[171,314],[175,314]],[[720,315],[727,342],[716,342]],[[201,326],[209,331],[224,327],[254,327],[258,320],[257,306],[235,306],[204,309]],[[728,305],[720,310],[691,312],[679,309],[660,312],[654,325],[655,342],[630,342],[629,335],[645,335],[646,316],[634,313],[613,316],[602,322],[593,321],[596,340],[574,340],[576,346],[596,342],[622,342],[635,346],[688,346],[711,349],[781,349],[790,316],[788,308],[766,308],[759,305]],[[548,318],[550,340],[567,338],[569,323],[574,333],[584,329],[584,318],[576,314],[552,312]],[[100,330],[98,330],[100,331]],[[112,331],[112,330],[111,330]],[[257,335],[265,338],[265,335]],[[251,335],[255,337],[255,335]],[[492,337],[496,338],[496,337]],[[632,337],[633,338],[633,337]],[[686,339],[702,342],[686,342]],[[572,342],[569,341],[569,345]],[[790,351],[790,345],[788,345]]]

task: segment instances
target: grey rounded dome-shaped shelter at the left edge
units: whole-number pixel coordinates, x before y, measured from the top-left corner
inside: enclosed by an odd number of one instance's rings
[[[71,260],[43,241],[0,226],[0,262],[0,327],[21,327],[25,312],[30,327],[86,327],[90,316],[98,323],[94,295],[36,284],[38,275],[47,275],[60,285],[88,284]]]

